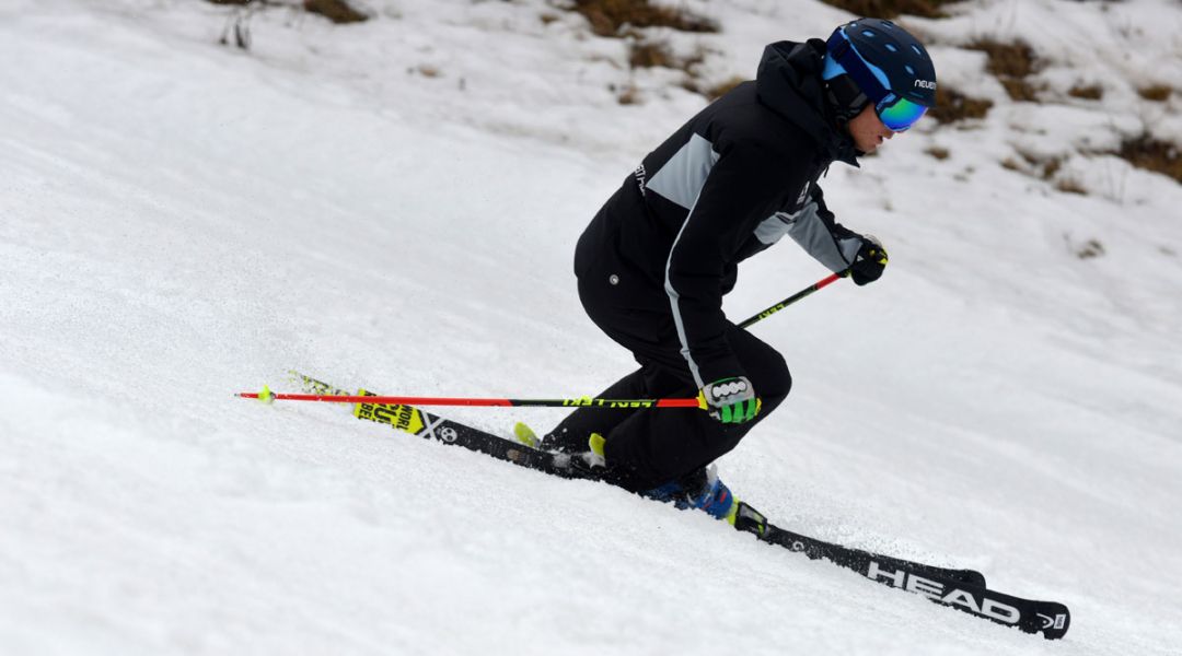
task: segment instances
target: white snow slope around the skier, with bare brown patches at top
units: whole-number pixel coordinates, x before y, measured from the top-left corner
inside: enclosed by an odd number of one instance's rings
[[[694,38],[720,77],[846,18],[690,5],[723,24]],[[1131,92],[1182,88],[1176,2],[914,22],[941,81],[998,106],[830,172],[890,271],[753,328],[795,387],[720,461],[778,524],[1067,603],[1060,643],[604,485],[233,399],[292,367],[557,396],[631,366],[583,316],[571,250],[701,98],[540,0],[370,6],[348,28],[260,14],[246,54],[204,2],[0,5],[0,652],[1178,654],[1182,189],[1079,155],[1142,123],[1178,137],[1177,93]],[[956,47],[1060,15],[1080,37],[1039,74],[1102,79],[1100,103],[1011,103]],[[642,104],[616,103],[628,84]],[[1004,169],[1019,146],[1097,191]],[[1105,254],[1078,257],[1090,240]],[[781,244],[727,310],[824,275]]]

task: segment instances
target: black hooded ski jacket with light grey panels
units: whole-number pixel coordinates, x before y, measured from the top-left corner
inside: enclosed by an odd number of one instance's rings
[[[671,313],[699,387],[743,375],[722,313],[739,262],[790,235],[836,273],[862,244],[817,186],[833,160],[857,166],[827,113],[824,57],[819,39],[767,46],[756,79],[650,152],[579,238],[576,275],[610,277],[628,308]]]

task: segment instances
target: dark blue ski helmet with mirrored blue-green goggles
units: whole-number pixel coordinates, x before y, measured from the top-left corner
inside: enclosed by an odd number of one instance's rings
[[[825,79],[838,118],[872,104],[883,124],[902,132],[936,104],[936,68],[915,37],[889,20],[839,26],[826,46]]]

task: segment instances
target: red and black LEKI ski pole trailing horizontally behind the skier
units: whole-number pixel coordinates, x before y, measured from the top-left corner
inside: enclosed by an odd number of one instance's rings
[[[239,392],[235,396],[273,401],[318,401],[324,404],[370,404],[378,406],[543,406],[543,407],[603,407],[603,408],[700,408],[697,399],[470,399],[448,396],[370,396],[333,394],[284,394],[264,387],[262,392]]]

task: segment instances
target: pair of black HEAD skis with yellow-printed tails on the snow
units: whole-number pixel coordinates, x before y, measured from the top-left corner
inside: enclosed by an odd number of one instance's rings
[[[310,394],[353,395],[312,376],[291,372]],[[357,396],[376,394],[361,389]],[[409,405],[355,404],[353,416],[442,444],[460,446],[498,460],[563,478],[584,478],[582,470],[566,466],[566,455],[556,455],[446,419]],[[937,604],[1014,627],[1047,639],[1061,638],[1071,625],[1071,612],[1058,602],[1031,601],[991,590],[975,570],[948,569],[819,540],[771,524],[751,505],[740,501],[736,530],[764,543],[825,559],[858,572],[875,583],[922,595]]]

